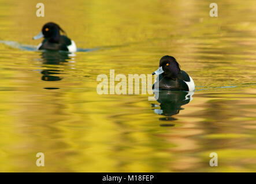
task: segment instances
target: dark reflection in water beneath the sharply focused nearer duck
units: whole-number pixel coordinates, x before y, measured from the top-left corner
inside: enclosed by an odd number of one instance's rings
[[[155,93],[158,93],[158,99],[156,99],[160,105],[151,104],[151,106],[155,113],[165,116],[159,118],[159,120],[173,121],[176,120],[176,118],[172,116],[179,114],[180,110],[183,110],[181,106],[188,104],[193,99],[192,95],[194,91],[161,90],[154,91],[154,94]],[[155,95],[155,97],[156,96],[157,95]],[[161,126],[174,126],[174,124],[162,124]]]

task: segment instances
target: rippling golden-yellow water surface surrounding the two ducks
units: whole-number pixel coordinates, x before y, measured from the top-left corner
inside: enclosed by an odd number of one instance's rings
[[[38,2],[0,0],[0,171],[256,171],[255,1],[214,1],[214,18],[211,1],[52,0],[36,17]],[[49,21],[79,52],[34,51]],[[99,74],[151,74],[164,55],[191,101],[97,94]]]

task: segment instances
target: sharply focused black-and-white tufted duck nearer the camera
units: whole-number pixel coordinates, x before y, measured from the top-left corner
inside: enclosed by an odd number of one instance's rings
[[[160,60],[159,68],[153,73],[157,74],[157,81],[153,89],[194,91],[195,83],[187,72],[180,70],[179,63],[172,56],[164,56]]]

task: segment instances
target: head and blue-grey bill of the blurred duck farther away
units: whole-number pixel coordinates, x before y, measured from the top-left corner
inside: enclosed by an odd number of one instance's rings
[[[45,39],[48,39],[50,42],[57,43],[60,39],[60,31],[62,33],[65,33],[64,30],[62,30],[58,24],[48,22],[47,24],[44,24],[42,32],[40,32],[37,36],[33,37],[33,39],[37,40],[44,37]]]

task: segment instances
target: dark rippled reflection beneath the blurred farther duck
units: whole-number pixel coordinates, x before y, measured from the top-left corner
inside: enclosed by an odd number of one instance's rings
[[[41,56],[43,67],[47,65],[47,69],[41,71],[41,74],[43,74],[42,81],[61,81],[62,77],[57,76],[63,74],[60,66],[68,63],[68,60],[72,60],[72,56],[75,56],[75,54],[61,51],[43,51]]]

